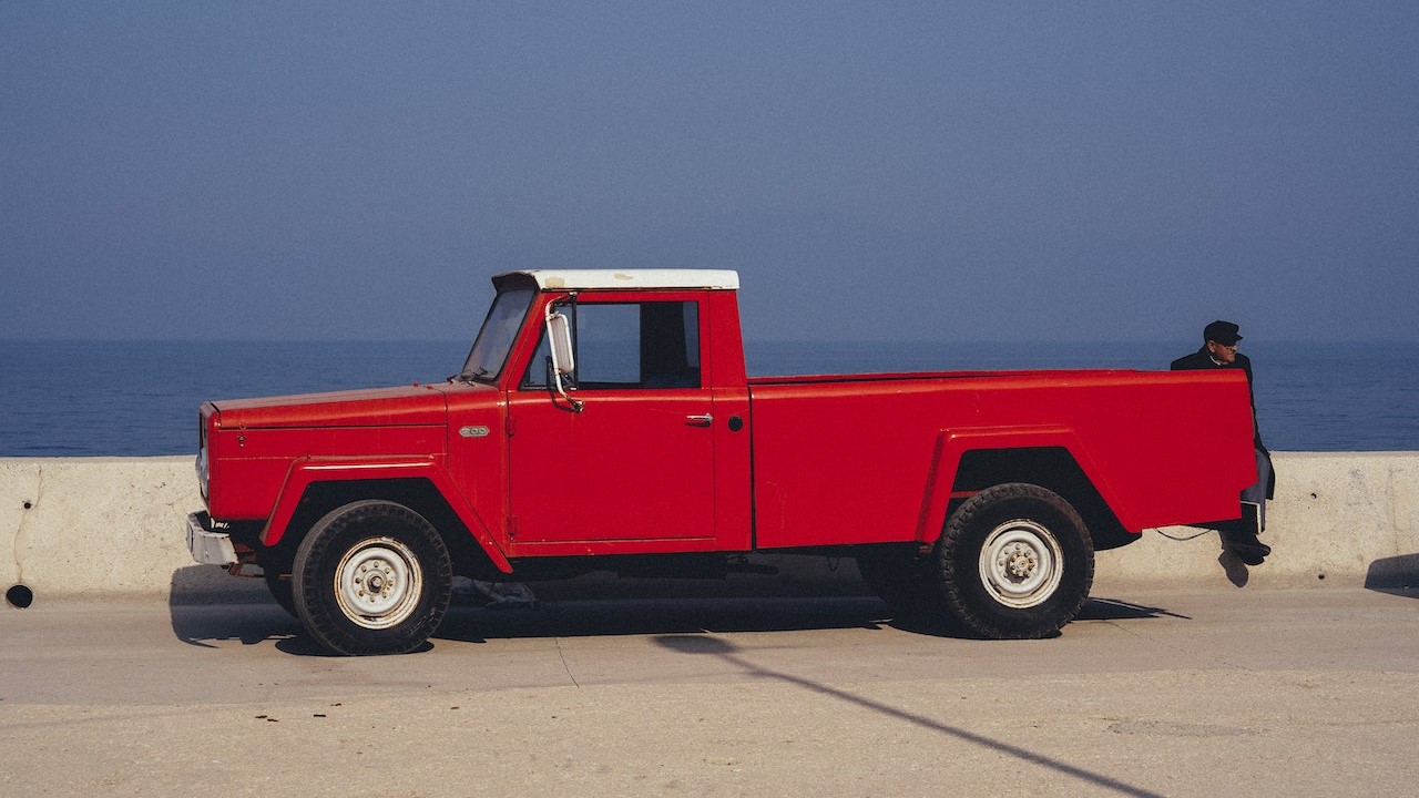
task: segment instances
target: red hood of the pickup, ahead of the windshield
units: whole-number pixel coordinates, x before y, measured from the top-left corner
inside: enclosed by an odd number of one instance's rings
[[[211,402],[223,429],[443,425],[443,386],[413,385]]]

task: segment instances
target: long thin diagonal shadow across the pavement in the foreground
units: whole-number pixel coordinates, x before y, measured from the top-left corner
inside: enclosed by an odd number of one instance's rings
[[[1158,792],[1152,792],[1152,791],[1144,789],[1141,787],[1134,787],[1132,784],[1127,784],[1127,782],[1120,781],[1117,778],[1112,778],[1112,777],[1108,777],[1108,775],[1104,775],[1104,774],[1100,774],[1100,772],[1094,772],[1094,771],[1090,771],[1090,770],[1084,770],[1081,767],[1076,767],[1076,765],[1071,765],[1069,763],[1063,763],[1063,761],[1056,760],[1053,757],[1046,757],[1044,754],[1037,754],[1034,751],[1030,751],[1027,748],[1022,748],[1019,745],[1012,745],[1009,743],[1002,743],[999,740],[992,740],[992,738],[989,738],[989,737],[986,737],[983,734],[976,734],[973,731],[966,731],[965,728],[958,728],[955,726],[948,726],[945,723],[939,723],[939,721],[932,720],[929,717],[922,717],[920,714],[914,714],[914,713],[910,713],[910,711],[905,711],[905,710],[901,710],[901,709],[884,704],[881,701],[874,701],[871,699],[864,699],[861,696],[854,696],[854,694],[846,693],[843,690],[834,690],[833,687],[829,687],[827,684],[820,684],[820,683],[813,682],[810,679],[803,679],[802,676],[793,676],[792,673],[780,673],[778,670],[768,670],[768,669],[761,667],[758,665],[753,665],[752,662],[749,662],[749,660],[744,659],[742,656],[739,656],[738,655],[738,647],[734,643],[729,643],[727,640],[721,640],[718,638],[708,638],[708,636],[704,636],[704,635],[661,635],[661,636],[656,638],[656,643],[660,645],[660,646],[663,646],[663,647],[680,652],[680,653],[717,656],[717,657],[719,657],[719,659],[722,659],[722,660],[725,660],[725,662],[728,662],[731,665],[734,665],[734,666],[738,666],[744,672],[751,673],[753,676],[763,676],[763,677],[768,677],[768,679],[775,679],[775,680],[779,680],[779,682],[785,682],[788,684],[795,684],[797,687],[803,687],[805,690],[817,693],[820,696],[829,696],[832,699],[837,699],[840,701],[856,704],[858,707],[868,709],[868,710],[885,714],[888,717],[894,717],[897,720],[902,720],[902,721],[920,726],[922,728],[928,728],[931,731],[946,734],[949,737],[955,737],[958,740],[964,740],[966,743],[971,743],[971,744],[975,744],[975,745],[981,745],[983,748],[989,748],[992,751],[996,751],[996,753],[1000,753],[1000,754],[1005,754],[1005,755],[1009,755],[1009,757],[1015,757],[1015,758],[1017,758],[1020,761],[1036,764],[1036,765],[1053,770],[1056,772],[1078,778],[1078,780],[1086,781],[1086,782],[1088,782],[1088,784],[1091,784],[1094,787],[1110,789],[1110,791],[1118,792],[1121,795],[1134,795],[1137,798],[1162,798],[1162,795],[1158,794]]]

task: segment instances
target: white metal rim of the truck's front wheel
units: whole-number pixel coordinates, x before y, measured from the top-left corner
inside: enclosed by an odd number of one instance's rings
[[[335,567],[335,599],[345,618],[366,629],[389,629],[413,615],[424,572],[394,538],[363,540]]]

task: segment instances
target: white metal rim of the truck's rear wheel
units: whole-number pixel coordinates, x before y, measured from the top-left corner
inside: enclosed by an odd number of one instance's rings
[[[1044,603],[1060,586],[1064,552],[1054,535],[1027,520],[1006,521],[981,547],[981,582],[1012,608]]]

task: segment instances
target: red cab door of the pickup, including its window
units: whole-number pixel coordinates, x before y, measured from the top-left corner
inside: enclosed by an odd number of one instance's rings
[[[698,295],[582,294],[561,312],[580,409],[549,390],[543,339],[508,398],[512,555],[714,548],[719,425]]]

